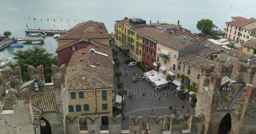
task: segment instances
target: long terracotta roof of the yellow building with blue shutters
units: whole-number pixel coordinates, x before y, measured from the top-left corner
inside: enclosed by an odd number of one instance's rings
[[[93,42],[93,44],[85,49],[79,49],[72,54],[66,68],[68,90],[114,87],[111,47]],[[90,52],[91,49],[95,49],[95,51],[107,54],[108,56]],[[80,59],[83,59],[83,61],[80,62]],[[82,80],[82,74],[85,75],[85,80]]]

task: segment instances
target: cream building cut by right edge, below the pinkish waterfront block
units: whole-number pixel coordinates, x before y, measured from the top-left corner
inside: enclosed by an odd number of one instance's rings
[[[243,42],[256,39],[256,22],[249,23],[242,27],[239,37],[239,42]]]

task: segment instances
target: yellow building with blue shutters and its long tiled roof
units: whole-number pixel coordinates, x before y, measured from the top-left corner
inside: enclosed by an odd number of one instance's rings
[[[67,65],[69,116],[99,116],[101,125],[112,116],[113,64],[111,48],[92,41],[75,51]]]

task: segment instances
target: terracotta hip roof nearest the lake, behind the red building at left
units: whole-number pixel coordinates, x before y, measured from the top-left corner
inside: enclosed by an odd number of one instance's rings
[[[79,23],[69,31],[70,33],[63,34],[56,40],[111,39],[105,24],[96,21]]]

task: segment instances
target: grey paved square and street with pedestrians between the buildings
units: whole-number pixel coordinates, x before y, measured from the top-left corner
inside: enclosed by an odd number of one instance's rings
[[[113,44],[111,46],[112,48],[117,49]],[[152,115],[152,109],[153,115],[162,116],[173,114],[173,111],[169,109],[169,106],[173,105],[180,107],[184,105],[185,111],[187,111],[188,108],[190,113],[194,113],[193,108],[191,108],[191,106],[189,105],[188,98],[186,98],[184,101],[181,101],[179,97],[175,94],[165,94],[165,90],[159,90],[158,92],[155,92],[153,88],[148,85],[147,81],[138,80],[136,83],[132,82],[131,77],[133,76],[133,74],[138,74],[139,77],[143,74],[143,72],[139,69],[139,67],[128,67],[128,64],[123,64],[123,61],[125,61],[125,59],[129,59],[123,54],[118,54],[117,58],[121,62],[119,70],[123,73],[122,77],[120,77],[120,82],[125,82],[124,87],[128,90],[128,92],[131,91],[135,93],[135,98],[131,98],[131,101],[129,101],[128,99],[128,94],[125,96],[126,106],[124,108],[125,120],[123,121],[122,125],[123,129],[129,129],[129,115],[133,115],[136,118],[138,116],[143,116],[143,119],[146,120],[147,116]],[[125,71],[128,71],[128,76],[124,76]],[[126,82],[128,82],[128,87],[126,85]],[[114,77],[114,83],[115,90],[117,91],[117,77]],[[143,91],[146,94],[144,98],[142,97]],[[161,97],[160,101],[159,97]],[[115,116],[118,114],[119,112],[115,111]],[[176,113],[176,117],[179,117],[178,113]],[[143,130],[144,129],[146,129],[146,127],[143,127]]]

